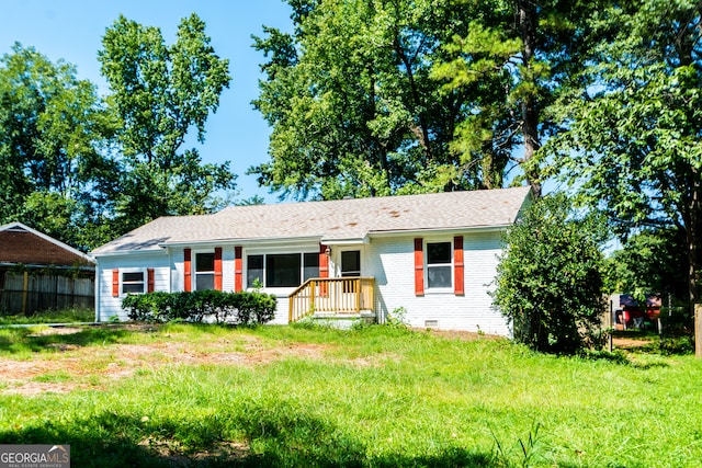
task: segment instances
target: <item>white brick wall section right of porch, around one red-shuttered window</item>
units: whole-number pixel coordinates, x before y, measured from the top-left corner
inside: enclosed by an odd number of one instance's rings
[[[463,296],[453,292],[434,293],[427,288],[426,277],[424,295],[415,294],[414,239],[417,237],[420,236],[375,238],[367,249],[366,259],[372,262],[371,270],[375,276],[378,320],[385,321],[388,313],[405,308],[405,320],[411,327],[431,324],[444,330],[479,330],[509,335],[505,318],[492,307],[488,295],[500,253],[499,232],[464,236]],[[424,242],[453,241],[453,235],[431,235],[423,239]]]

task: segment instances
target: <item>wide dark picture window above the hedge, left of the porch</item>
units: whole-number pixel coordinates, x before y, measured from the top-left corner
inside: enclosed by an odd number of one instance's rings
[[[319,253],[268,253],[247,256],[247,287],[297,287],[319,276]]]

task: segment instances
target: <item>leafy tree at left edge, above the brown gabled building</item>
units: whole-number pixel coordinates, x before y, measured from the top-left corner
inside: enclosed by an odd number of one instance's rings
[[[15,44],[0,58],[0,224],[94,246],[88,231],[115,191],[112,132],[95,87],[75,67]]]

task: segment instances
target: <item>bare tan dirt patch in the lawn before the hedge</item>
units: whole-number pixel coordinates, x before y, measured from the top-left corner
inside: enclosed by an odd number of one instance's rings
[[[46,329],[37,335],[80,331],[79,328]],[[171,341],[168,334],[148,344],[80,346],[52,343],[47,346],[54,349],[55,353],[39,353],[31,359],[0,357],[0,392],[33,396],[49,391],[102,389],[110,381],[131,377],[139,369],[152,370],[179,364],[254,366],[287,356],[321,358],[328,349],[309,343],[270,347],[250,335],[192,343]]]

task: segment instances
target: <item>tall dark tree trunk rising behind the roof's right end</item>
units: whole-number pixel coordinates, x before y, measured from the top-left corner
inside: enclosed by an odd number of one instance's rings
[[[539,13],[536,12],[536,4],[530,0],[517,1],[517,23],[519,32],[522,38],[522,65],[525,70],[530,70],[526,79],[533,80],[533,73],[531,69],[533,67],[532,60],[534,58],[534,50],[536,48],[536,26],[539,24]],[[529,161],[534,152],[541,147],[539,141],[539,105],[536,96],[529,94],[523,96],[521,102],[522,113],[522,134],[524,136],[524,158],[523,161]],[[534,195],[541,195],[541,184],[536,181],[536,174],[526,173],[526,180],[531,185]]]

